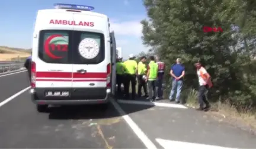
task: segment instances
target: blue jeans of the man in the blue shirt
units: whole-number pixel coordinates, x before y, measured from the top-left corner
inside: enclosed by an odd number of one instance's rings
[[[172,89],[169,95],[169,99],[172,101],[174,99],[174,94],[175,91],[177,91],[176,93],[176,102],[180,101],[180,94],[181,94],[181,89],[183,86],[183,80],[172,80]]]

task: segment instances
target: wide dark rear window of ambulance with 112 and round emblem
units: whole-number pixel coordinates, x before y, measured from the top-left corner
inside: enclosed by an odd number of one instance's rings
[[[39,58],[46,63],[98,64],[105,59],[104,34],[70,30],[43,30]]]

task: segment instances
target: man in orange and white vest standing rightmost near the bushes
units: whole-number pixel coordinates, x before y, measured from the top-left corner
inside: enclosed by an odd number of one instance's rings
[[[213,86],[212,81],[210,79],[210,74],[207,73],[206,69],[204,69],[203,66],[201,66],[201,61],[197,61],[195,66],[197,68],[197,76],[199,77],[199,92],[198,92],[199,108],[197,108],[197,110],[209,111],[210,103],[207,99],[207,93],[208,93],[208,89],[212,88]]]

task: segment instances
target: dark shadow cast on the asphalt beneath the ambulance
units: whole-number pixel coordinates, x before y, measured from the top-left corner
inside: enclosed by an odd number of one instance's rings
[[[126,114],[130,114],[144,109],[149,109],[153,105],[134,106],[126,104]],[[120,115],[119,112],[110,103],[107,109],[99,105],[81,105],[81,106],[53,106],[49,108],[49,119],[104,119],[114,118]]]

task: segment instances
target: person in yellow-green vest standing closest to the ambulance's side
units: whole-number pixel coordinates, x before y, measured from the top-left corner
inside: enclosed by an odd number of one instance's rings
[[[122,95],[121,92],[121,84],[124,83],[124,66],[123,66],[123,62],[122,62],[122,57],[118,57],[117,58],[117,62],[116,62],[116,80],[117,80],[117,94],[118,95]]]

